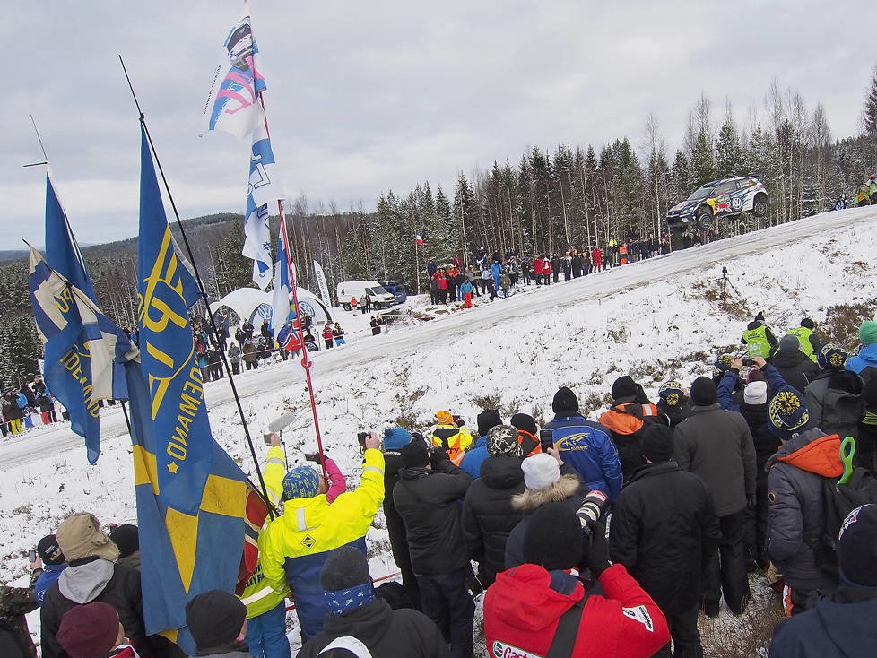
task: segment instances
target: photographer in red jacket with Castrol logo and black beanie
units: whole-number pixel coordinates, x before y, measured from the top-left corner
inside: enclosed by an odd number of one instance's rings
[[[670,641],[664,614],[619,564],[610,566],[601,524],[588,521],[590,545],[577,515],[562,503],[536,511],[527,527],[527,564],[497,576],[484,597],[489,655],[573,655],[648,658]],[[603,593],[575,569],[591,568]]]

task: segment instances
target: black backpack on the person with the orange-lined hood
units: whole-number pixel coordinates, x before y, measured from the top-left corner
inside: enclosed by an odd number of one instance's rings
[[[832,478],[822,478],[822,497],[825,501],[825,523],[819,545],[813,548],[822,571],[837,578],[840,526],[856,507],[877,503],[877,478],[862,467],[853,469],[846,484],[838,484]]]

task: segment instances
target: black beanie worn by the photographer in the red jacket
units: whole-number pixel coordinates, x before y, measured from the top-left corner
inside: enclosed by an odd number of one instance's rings
[[[521,548],[528,563],[549,571],[577,567],[582,555],[582,524],[563,503],[543,505],[530,516]]]

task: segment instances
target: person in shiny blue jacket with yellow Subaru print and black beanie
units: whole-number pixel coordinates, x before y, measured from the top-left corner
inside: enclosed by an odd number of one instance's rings
[[[578,398],[566,386],[554,394],[551,403],[554,447],[565,463],[578,473],[588,489],[600,489],[612,502],[621,492],[621,461],[607,430],[578,412]]]

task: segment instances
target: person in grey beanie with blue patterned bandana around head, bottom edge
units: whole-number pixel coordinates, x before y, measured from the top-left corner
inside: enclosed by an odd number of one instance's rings
[[[320,586],[332,614],[323,630],[301,647],[296,658],[326,655],[326,646],[348,648],[357,643],[373,656],[444,658],[447,643],[439,628],[417,610],[393,610],[375,595],[369,562],[360,550],[343,546],[334,551],[320,571]]]

